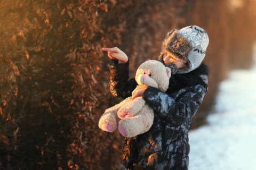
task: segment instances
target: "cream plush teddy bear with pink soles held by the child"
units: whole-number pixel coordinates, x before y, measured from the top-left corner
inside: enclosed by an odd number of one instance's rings
[[[165,92],[169,87],[171,70],[156,60],[143,62],[135,74],[138,86],[151,86]],[[153,108],[140,96],[132,100],[127,97],[121,103],[106,109],[100,117],[99,128],[114,132],[118,126],[124,137],[135,137],[147,132],[154,121]]]

